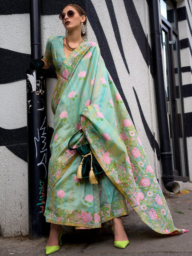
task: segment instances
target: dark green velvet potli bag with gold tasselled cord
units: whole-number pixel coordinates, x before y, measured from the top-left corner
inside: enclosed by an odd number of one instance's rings
[[[83,133],[83,130],[81,129],[77,133]],[[75,133],[70,138],[69,143],[77,133]],[[70,148],[69,143],[68,143],[69,150],[77,150],[77,152],[81,154],[81,163],[78,167],[77,179],[89,178],[89,181],[91,184],[93,185],[97,184],[98,181],[95,178],[95,175],[102,173],[103,169],[101,168],[101,166],[97,162],[97,159],[94,157],[93,153],[91,152],[89,143],[74,149]]]

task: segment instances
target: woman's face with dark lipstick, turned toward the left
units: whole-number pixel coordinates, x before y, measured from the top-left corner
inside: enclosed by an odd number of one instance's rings
[[[68,17],[67,12],[69,10],[72,10],[75,12],[73,17]],[[62,22],[67,31],[74,30],[74,29],[81,30],[81,23],[85,21],[84,15],[79,15],[78,11],[72,6],[65,7],[62,13],[65,13],[65,18],[62,20]]]

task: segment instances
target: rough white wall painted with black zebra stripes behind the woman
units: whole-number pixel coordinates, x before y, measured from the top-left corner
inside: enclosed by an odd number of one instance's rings
[[[151,166],[161,183],[161,160],[151,63],[149,12],[146,0],[77,0],[87,14],[87,37],[98,43],[138,131]],[[58,15],[69,3],[41,0],[42,49],[65,29]],[[185,3],[187,3],[185,5]],[[192,10],[181,1],[179,20],[187,144],[192,144]],[[30,61],[29,1],[8,0],[0,6],[0,235],[28,233],[26,69]],[[183,18],[185,12],[185,19]],[[186,29],[183,29],[186,28]],[[42,55],[44,53],[42,52]],[[49,132],[53,132],[51,97],[57,83],[54,67],[47,72]],[[192,153],[188,149],[189,163]],[[190,164],[189,164],[190,165]],[[191,166],[190,165],[190,166]],[[191,174],[192,177],[192,174]],[[17,225],[15,225],[17,223]]]

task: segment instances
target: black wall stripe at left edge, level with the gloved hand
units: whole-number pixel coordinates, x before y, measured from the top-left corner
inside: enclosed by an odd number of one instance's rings
[[[0,48],[0,56],[2,60],[0,62],[0,84],[26,79],[30,54]]]

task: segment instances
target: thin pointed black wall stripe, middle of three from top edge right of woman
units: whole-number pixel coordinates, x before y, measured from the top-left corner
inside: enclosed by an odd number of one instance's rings
[[[127,62],[126,62],[126,59],[125,59],[125,55],[124,55],[124,51],[123,51],[123,46],[122,46],[122,42],[121,42],[121,35],[119,33],[119,27],[117,25],[117,19],[115,17],[115,11],[114,11],[114,7],[113,7],[113,3],[112,3],[111,0],[105,0],[105,2],[106,2],[106,5],[107,5],[107,9],[109,11],[109,16],[110,16],[110,19],[111,19],[111,24],[112,24],[113,31],[114,31],[114,34],[115,34],[115,39],[117,41],[117,45],[119,47],[119,51],[121,53],[123,62],[124,62],[125,67],[127,69],[127,72],[129,73],[129,69],[128,69],[128,66],[127,66]]]

